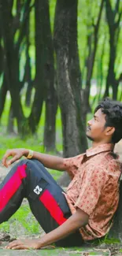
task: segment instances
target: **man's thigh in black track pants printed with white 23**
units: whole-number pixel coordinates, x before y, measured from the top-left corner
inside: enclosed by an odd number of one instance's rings
[[[62,194],[62,188],[39,161],[28,161],[28,172],[31,173],[29,180],[32,180],[31,189],[29,187],[27,193],[31,212],[43,230],[50,232],[71,216],[68,203]]]

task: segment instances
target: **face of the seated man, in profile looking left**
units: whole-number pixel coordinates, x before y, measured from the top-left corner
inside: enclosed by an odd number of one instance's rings
[[[87,122],[87,138],[94,142],[100,142],[105,139],[105,114],[102,109],[94,113],[94,117]]]

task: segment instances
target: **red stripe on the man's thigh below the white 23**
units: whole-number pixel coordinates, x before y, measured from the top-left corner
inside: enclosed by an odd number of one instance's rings
[[[64,213],[62,212],[61,208],[58,206],[57,201],[53,195],[50,194],[50,191],[44,191],[43,195],[39,197],[39,200],[43,202],[43,205],[59,225],[63,224],[67,220],[64,217]]]

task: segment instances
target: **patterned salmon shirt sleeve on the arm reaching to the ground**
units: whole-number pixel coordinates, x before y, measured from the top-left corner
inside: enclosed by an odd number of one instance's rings
[[[84,173],[75,207],[83,210],[90,216],[98,203],[106,180],[107,174],[103,169],[98,169],[94,166],[89,167],[87,172]]]

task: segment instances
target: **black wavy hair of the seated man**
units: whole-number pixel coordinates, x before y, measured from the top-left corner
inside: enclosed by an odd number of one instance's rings
[[[94,109],[94,113],[98,109],[102,109],[102,113],[105,113],[105,127],[110,126],[115,128],[112,143],[118,143],[122,139],[122,104],[110,98],[105,98],[98,103],[98,106]]]

